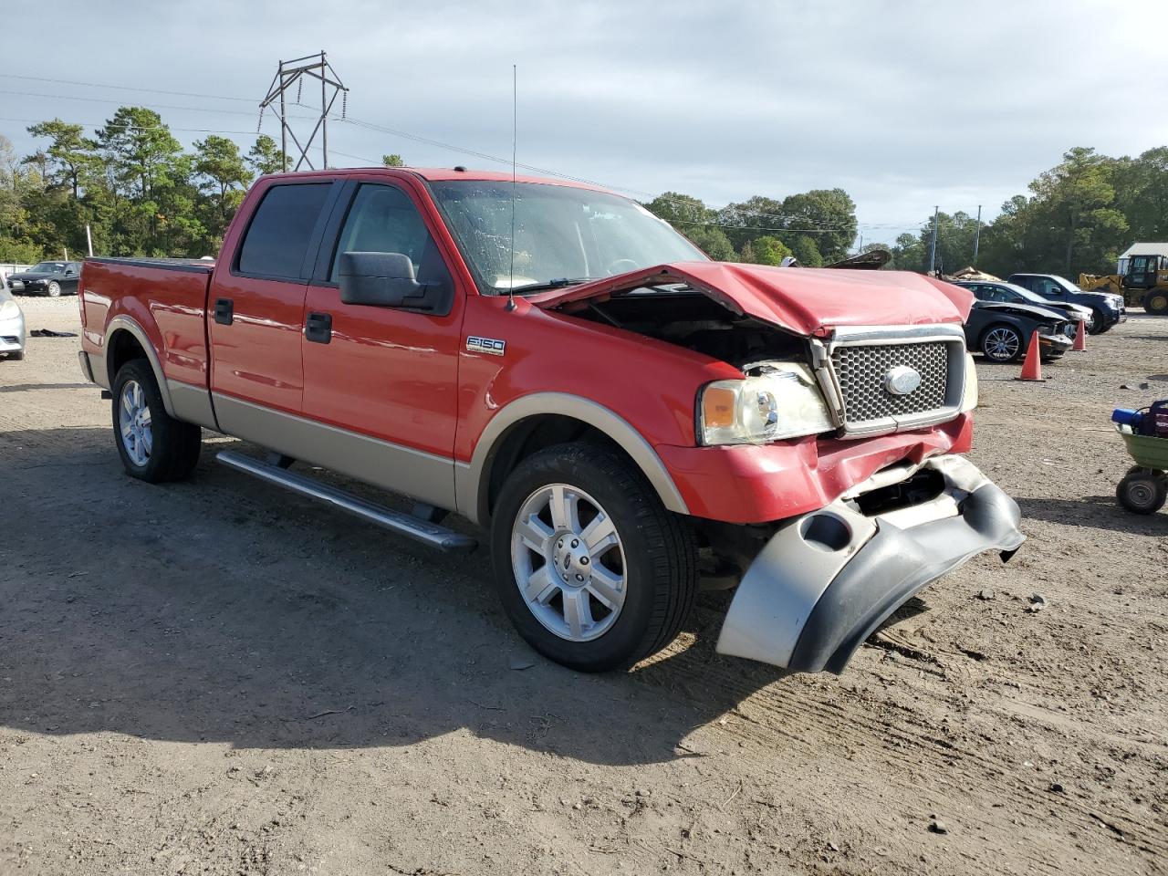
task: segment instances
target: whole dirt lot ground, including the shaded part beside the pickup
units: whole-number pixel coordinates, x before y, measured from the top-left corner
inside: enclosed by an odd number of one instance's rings
[[[842,677],[716,655],[716,595],[631,673],[562,669],[481,549],[290,498],[217,436],[189,482],[126,478],[76,349],[0,362],[0,874],[1168,871],[1168,510],[1115,507],[1107,422],[1168,396],[1168,319],[1044,384],[979,364],[972,456],[1029,541]]]

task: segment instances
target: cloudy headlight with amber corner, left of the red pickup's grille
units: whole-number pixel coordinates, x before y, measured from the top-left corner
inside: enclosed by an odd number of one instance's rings
[[[834,429],[807,366],[773,362],[744,380],[716,381],[697,402],[702,444],[762,444]]]

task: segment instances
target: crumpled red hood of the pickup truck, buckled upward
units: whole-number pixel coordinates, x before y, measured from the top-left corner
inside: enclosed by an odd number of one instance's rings
[[[647,285],[687,283],[726,308],[802,335],[842,326],[961,324],[973,294],[909,271],[769,267],[729,262],[675,262],[542,292],[528,298],[545,308],[606,298]]]

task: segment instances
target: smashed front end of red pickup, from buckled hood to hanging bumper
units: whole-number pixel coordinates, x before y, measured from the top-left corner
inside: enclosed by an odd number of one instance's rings
[[[1024,541],[1017,505],[951,452],[978,383],[971,299],[945,285],[673,265],[542,301],[739,369],[700,390],[696,447],[658,449],[705,586],[737,585],[718,652],[840,673],[926,584]]]

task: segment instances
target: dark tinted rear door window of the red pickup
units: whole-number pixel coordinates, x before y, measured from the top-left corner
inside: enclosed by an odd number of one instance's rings
[[[314,182],[267,189],[239,248],[239,272],[299,279],[329,188],[331,182]]]

